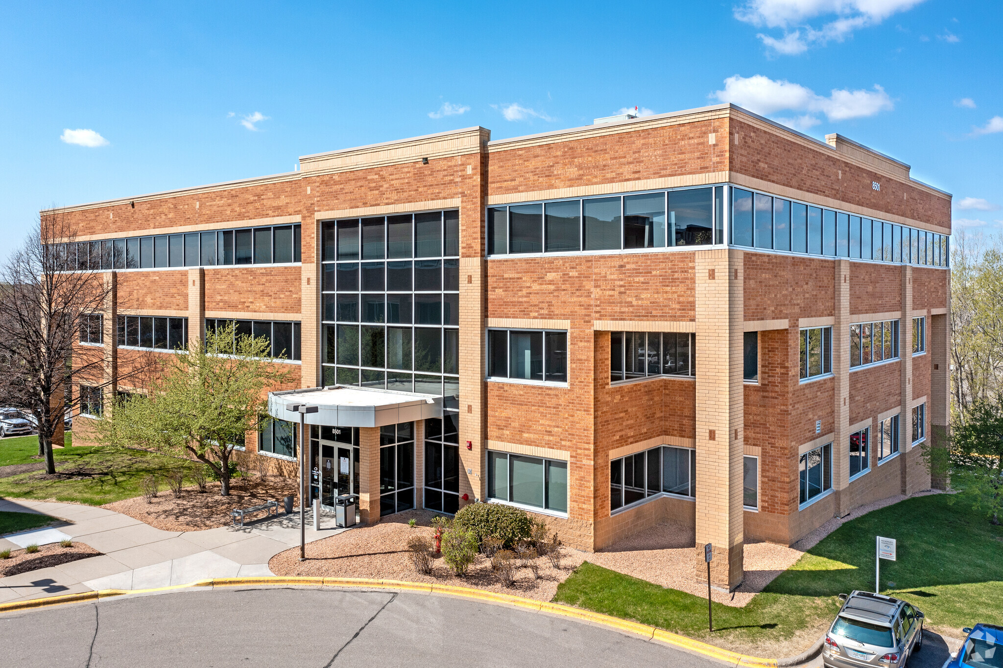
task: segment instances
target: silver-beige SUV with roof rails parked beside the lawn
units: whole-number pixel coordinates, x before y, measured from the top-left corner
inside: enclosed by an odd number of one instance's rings
[[[826,668],[900,668],[923,646],[923,613],[882,594],[840,594],[843,607],[821,648]]]

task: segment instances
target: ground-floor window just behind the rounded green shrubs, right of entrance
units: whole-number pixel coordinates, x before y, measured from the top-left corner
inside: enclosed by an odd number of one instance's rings
[[[568,512],[568,463],[487,453],[487,498],[555,513]]]

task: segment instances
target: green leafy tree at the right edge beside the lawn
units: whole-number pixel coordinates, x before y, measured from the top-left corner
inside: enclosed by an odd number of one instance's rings
[[[985,511],[993,524],[1003,512],[1003,393],[976,400],[964,423],[956,421],[951,447],[951,487],[958,498]]]

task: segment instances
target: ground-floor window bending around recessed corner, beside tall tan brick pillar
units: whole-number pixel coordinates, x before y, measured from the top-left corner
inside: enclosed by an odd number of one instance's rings
[[[696,451],[659,446],[610,461],[610,512],[662,495],[696,496]]]

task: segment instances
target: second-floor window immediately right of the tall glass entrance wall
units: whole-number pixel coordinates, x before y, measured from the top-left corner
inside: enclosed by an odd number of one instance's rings
[[[568,382],[568,332],[487,330],[487,377]]]

